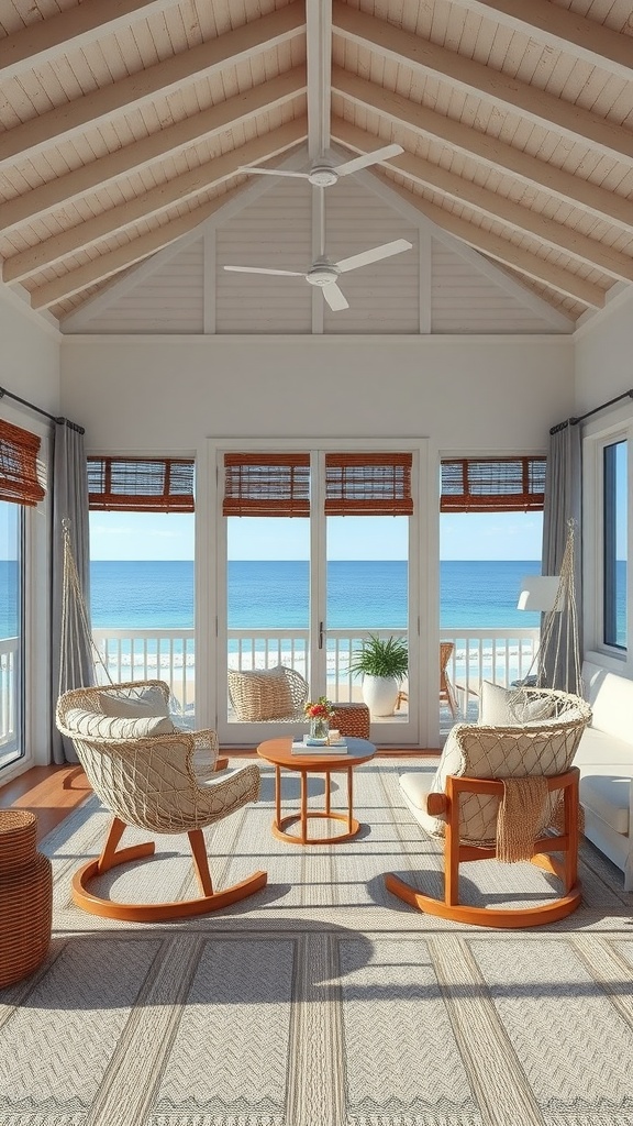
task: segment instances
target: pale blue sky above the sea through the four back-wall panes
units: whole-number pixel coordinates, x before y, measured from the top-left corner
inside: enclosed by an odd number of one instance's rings
[[[538,560],[541,512],[445,515],[440,558]],[[306,520],[232,519],[229,557],[307,558]],[[95,560],[188,560],[194,557],[194,517],[92,512],[90,554]],[[405,518],[340,517],[330,524],[330,558],[404,558]]]

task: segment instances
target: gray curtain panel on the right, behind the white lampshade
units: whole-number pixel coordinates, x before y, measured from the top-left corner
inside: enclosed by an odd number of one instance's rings
[[[549,688],[582,694],[579,670],[582,653],[582,436],[567,423],[550,436],[543,512],[543,574],[560,574],[570,522],[573,529],[573,601],[565,599],[544,631],[541,668]]]

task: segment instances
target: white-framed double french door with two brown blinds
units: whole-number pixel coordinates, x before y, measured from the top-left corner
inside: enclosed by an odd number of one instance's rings
[[[235,699],[235,685],[250,692],[252,677],[233,673],[283,665],[307,682],[311,699],[360,703],[355,660],[371,636],[393,636],[408,646],[408,676],[393,711],[372,715],[372,738],[419,745],[424,443],[242,439],[214,453],[221,741],[252,745],[305,726],[280,723],[277,705],[265,717],[266,683],[264,701]]]

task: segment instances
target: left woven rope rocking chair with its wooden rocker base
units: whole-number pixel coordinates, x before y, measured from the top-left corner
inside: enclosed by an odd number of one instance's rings
[[[150,717],[146,711],[134,715],[137,705],[141,712],[146,708],[151,692],[159,704],[162,695],[167,704],[167,685],[143,681],[73,689],[60,697],[56,711],[59,730],[72,740],[92,789],[113,813],[99,859],[83,865],[73,877],[73,900],[92,914],[135,922],[215,911],[259,891],[267,881],[265,872],[256,872],[241,883],[214,892],[203,834],[207,825],[257,801],[258,767],[249,765],[217,774],[215,732],[177,731],[160,712]],[[121,700],[127,715],[113,716],[112,708]],[[169,729],[172,733],[168,733]],[[153,841],[117,851],[126,825],[152,833],[187,833],[202,894],[160,903],[117,903],[92,894],[88,884],[95,876],[154,852]]]

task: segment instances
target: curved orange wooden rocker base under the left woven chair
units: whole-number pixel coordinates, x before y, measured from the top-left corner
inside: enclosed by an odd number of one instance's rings
[[[208,861],[204,844],[202,830],[194,830],[187,835],[191,844],[194,857],[194,868],[198,877],[198,883],[203,895],[194,900],[176,900],[162,903],[116,903],[114,900],[106,900],[95,895],[88,890],[88,883],[95,876],[101,876],[110,868],[121,864],[128,864],[131,860],[140,860],[148,856],[153,856],[155,844],[146,841],[143,844],[133,844],[116,851],[116,844],[121,839],[125,825],[114,819],[110,833],[104,851],[98,860],[89,860],[83,867],[75,872],[72,878],[72,899],[78,908],[88,911],[90,914],[102,915],[106,919],[121,919],[126,922],[163,922],[168,919],[182,919],[190,915],[206,914],[209,911],[220,911],[222,908],[238,903],[240,900],[252,895],[266,887],[268,874],[256,872],[248,879],[242,879],[239,884],[232,884],[222,892],[214,892],[208,873]]]

